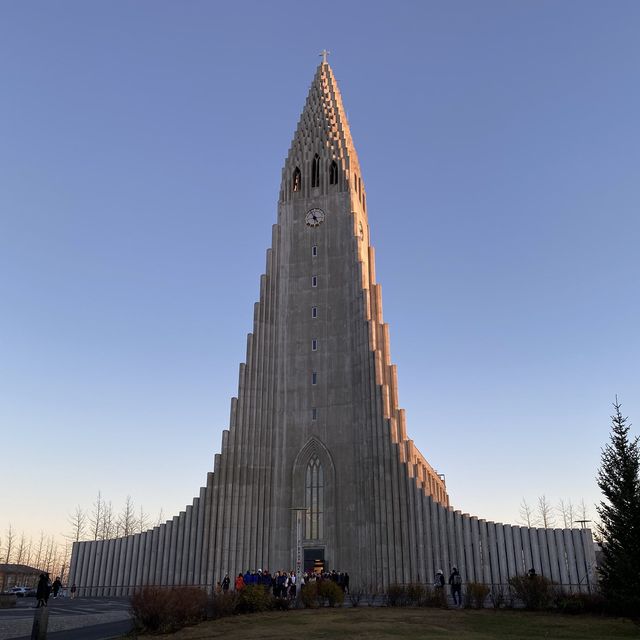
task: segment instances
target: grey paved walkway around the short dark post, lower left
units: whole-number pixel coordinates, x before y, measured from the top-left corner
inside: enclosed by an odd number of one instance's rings
[[[13,609],[0,609],[0,640],[28,640],[35,599],[20,598]],[[131,628],[128,598],[49,599],[47,640],[103,640]]]

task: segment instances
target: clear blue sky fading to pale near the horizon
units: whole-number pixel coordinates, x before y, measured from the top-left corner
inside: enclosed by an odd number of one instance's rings
[[[639,33],[624,0],[0,3],[0,535],[197,494],[323,48],[409,433],[463,511],[595,502],[616,393],[640,424]]]

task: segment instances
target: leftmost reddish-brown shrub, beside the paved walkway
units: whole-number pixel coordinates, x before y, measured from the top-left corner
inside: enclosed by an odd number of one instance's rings
[[[206,618],[207,594],[197,587],[145,587],[131,597],[131,613],[137,630],[170,633]]]

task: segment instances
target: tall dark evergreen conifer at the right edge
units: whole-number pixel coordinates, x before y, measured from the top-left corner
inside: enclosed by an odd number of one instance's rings
[[[598,505],[604,560],[600,586],[610,605],[621,613],[640,611],[640,450],[629,437],[628,418],[616,396],[610,442],[602,450]]]

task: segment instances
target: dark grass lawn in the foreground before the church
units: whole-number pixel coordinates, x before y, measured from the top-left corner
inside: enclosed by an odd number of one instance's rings
[[[157,636],[156,636],[157,637]],[[412,608],[302,609],[233,616],[203,622],[172,640],[313,640],[314,638],[474,638],[492,640],[615,640],[640,638],[640,626],[621,618],[527,611]]]

